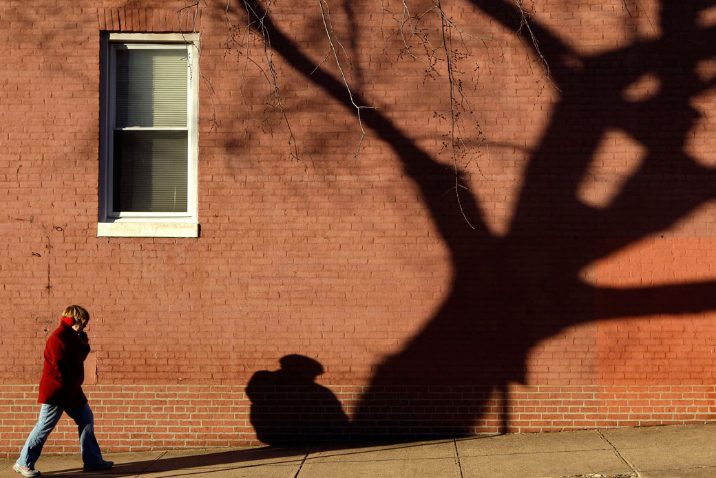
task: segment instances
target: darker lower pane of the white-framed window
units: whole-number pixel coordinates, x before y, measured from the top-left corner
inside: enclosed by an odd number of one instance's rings
[[[115,212],[187,212],[186,131],[115,131]]]

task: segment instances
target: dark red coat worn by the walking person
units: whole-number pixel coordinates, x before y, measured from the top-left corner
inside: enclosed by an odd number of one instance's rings
[[[47,339],[40,379],[39,403],[69,408],[84,406],[84,367],[89,345],[82,345],[77,331],[64,322]]]

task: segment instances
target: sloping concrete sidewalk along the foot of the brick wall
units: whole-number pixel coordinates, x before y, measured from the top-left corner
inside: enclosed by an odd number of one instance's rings
[[[79,456],[42,457],[43,476],[170,478],[716,477],[716,424],[480,436],[402,444],[146,451],[106,454],[107,472]],[[20,477],[14,460],[2,477]]]

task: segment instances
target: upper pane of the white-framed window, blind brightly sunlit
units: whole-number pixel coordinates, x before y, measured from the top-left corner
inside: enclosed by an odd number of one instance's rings
[[[115,126],[187,126],[185,49],[116,49]]]

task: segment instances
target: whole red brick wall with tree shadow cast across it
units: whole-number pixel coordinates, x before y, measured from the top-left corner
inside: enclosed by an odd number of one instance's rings
[[[357,158],[335,63],[304,75],[289,49],[324,59],[321,12],[272,7],[301,161],[279,115],[261,125],[271,87],[226,49],[226,3],[181,10],[192,3],[0,6],[0,454],[32,428],[44,341],[70,303],[92,314],[86,389],[110,450],[256,444],[244,387],[292,353],[321,363],[319,383],[369,434],[712,419],[714,294],[694,284],[716,275],[716,97],[694,85],[714,67],[704,44],[669,43],[704,37],[707,12],[536,2],[551,81],[499,2],[446,7],[488,39],[458,64],[488,140],[466,130],[466,220],[444,62],[430,77],[401,55],[400,2],[332,4],[352,92],[377,107],[362,110]],[[440,34],[435,16],[422,26]],[[98,238],[100,32],[192,28],[201,236]],[[74,441],[62,422],[47,451]]]

